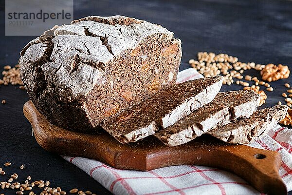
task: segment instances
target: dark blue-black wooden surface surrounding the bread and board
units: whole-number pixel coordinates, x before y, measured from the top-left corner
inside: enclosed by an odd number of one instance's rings
[[[161,24],[175,32],[175,37],[183,42],[180,70],[188,68],[188,59],[196,58],[199,51],[226,53],[242,62],[292,64],[292,1],[74,0],[74,19],[89,15],[125,15]],[[34,37],[4,36],[4,0],[0,0],[0,19],[1,68],[18,63],[19,52]],[[246,73],[259,76],[256,71]],[[286,90],[284,83],[289,81],[291,78],[272,83],[274,91],[267,92],[264,107],[284,101],[281,93]],[[232,85],[222,90],[241,88]],[[0,105],[0,167],[6,161],[13,163],[5,168],[7,178],[18,173],[23,179],[30,175],[33,179],[50,180],[52,186],[61,186],[66,191],[78,187],[110,194],[86,173],[37,145],[22,113],[23,103],[29,99],[25,91],[11,85],[0,86],[0,99],[7,101]],[[20,172],[21,164],[25,169]]]

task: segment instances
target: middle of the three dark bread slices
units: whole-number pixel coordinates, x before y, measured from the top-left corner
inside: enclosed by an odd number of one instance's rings
[[[154,136],[168,146],[184,144],[238,117],[250,117],[256,111],[259,100],[259,95],[253,90],[219,92],[212,102]]]

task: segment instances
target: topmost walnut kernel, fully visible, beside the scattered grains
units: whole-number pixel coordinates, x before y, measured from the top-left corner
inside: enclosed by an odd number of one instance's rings
[[[290,70],[288,66],[284,66],[282,64],[278,64],[277,66],[274,64],[267,64],[265,68],[260,71],[260,74],[263,80],[271,82],[281,78],[288,78],[290,75]]]

